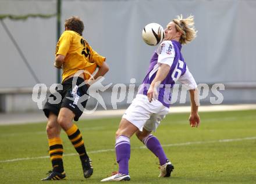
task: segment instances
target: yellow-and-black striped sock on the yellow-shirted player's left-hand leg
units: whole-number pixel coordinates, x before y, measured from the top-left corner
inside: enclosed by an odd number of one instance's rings
[[[48,139],[49,142],[49,154],[52,162],[52,168],[54,171],[62,173],[63,168],[63,146],[61,138]]]

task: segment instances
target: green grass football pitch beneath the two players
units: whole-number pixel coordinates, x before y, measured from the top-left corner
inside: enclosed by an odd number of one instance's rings
[[[170,178],[158,178],[158,159],[133,136],[129,183],[256,183],[256,110],[200,116],[200,127],[191,128],[188,113],[170,114],[154,134],[175,166]],[[120,117],[79,121],[93,160],[89,179],[83,178],[79,157],[62,132],[67,177],[52,183],[100,183],[117,171],[114,145],[119,121]],[[0,126],[0,183],[42,183],[51,169],[45,125]]]

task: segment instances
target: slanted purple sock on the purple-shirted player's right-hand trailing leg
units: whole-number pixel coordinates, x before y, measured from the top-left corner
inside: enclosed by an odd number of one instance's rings
[[[158,157],[160,165],[163,165],[166,163],[166,160],[168,159],[165,155],[165,152],[163,151],[163,148],[159,142],[159,140],[152,134],[145,137],[143,140],[145,146],[152,151],[155,156]]]

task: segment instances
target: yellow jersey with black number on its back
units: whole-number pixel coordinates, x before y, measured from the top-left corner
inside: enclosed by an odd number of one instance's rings
[[[55,55],[65,56],[62,66],[62,81],[79,70],[86,70],[93,74],[97,66],[101,67],[105,57],[91,48],[88,42],[75,31],[64,31],[56,45]],[[85,74],[85,80],[90,75]]]

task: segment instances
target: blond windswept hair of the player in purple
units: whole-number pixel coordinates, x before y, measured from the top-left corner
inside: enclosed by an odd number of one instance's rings
[[[197,37],[197,31],[194,27],[194,16],[190,15],[183,19],[182,15],[178,15],[177,19],[172,20],[175,23],[176,30],[182,33],[180,37],[180,44],[188,44]]]

